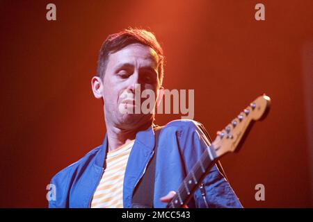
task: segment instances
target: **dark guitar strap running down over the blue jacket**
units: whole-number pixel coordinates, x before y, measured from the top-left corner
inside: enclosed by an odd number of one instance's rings
[[[154,174],[155,161],[157,159],[157,148],[159,146],[159,134],[163,126],[154,127],[154,154],[145,169],[145,173],[139,181],[131,200],[131,208],[153,208],[154,200]]]

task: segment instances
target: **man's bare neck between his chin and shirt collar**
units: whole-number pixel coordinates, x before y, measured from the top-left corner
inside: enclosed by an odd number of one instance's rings
[[[106,133],[108,135],[109,151],[114,151],[120,146],[135,139],[136,134],[139,131],[145,130],[150,126],[152,126],[152,123],[145,123],[138,128],[125,130],[117,126],[110,126],[109,124],[106,124]]]

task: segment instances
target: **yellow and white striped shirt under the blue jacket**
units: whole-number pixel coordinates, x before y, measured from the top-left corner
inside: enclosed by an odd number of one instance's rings
[[[122,208],[123,182],[127,160],[135,140],[106,155],[106,169],[93,195],[92,208]]]

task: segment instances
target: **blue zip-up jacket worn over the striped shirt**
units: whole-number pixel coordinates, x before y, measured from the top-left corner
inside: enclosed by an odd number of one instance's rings
[[[207,148],[207,137],[200,123],[191,120],[175,120],[164,126],[159,134],[159,148],[155,168],[154,207],[166,207],[159,198],[169,191],[177,190],[186,173],[199,160]],[[56,174],[51,184],[56,187],[55,200],[49,200],[49,207],[90,207],[93,194],[102,178],[106,159],[108,139],[101,146],[87,153],[81,160],[71,164]],[[154,130],[152,126],[136,134],[136,140],[125,171],[123,204],[131,207],[131,197],[138,180],[154,150]],[[209,207],[241,207],[234,191],[218,171],[212,167],[203,182]],[[205,207],[197,189],[188,207]]]

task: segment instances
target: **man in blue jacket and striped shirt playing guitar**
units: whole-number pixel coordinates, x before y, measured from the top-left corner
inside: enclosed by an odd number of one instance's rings
[[[49,207],[134,207],[134,193],[141,191],[150,165],[154,173],[148,180],[154,185],[145,188],[153,192],[151,207],[166,207],[209,142],[192,120],[171,121],[156,136],[154,108],[163,95],[162,80],[163,51],[152,33],[127,29],[109,35],[91,80],[93,94],[104,104],[106,137],[52,178],[56,198]],[[135,98],[138,88],[156,95],[152,112],[134,112],[142,103]],[[185,207],[241,207],[216,166],[202,186]]]

